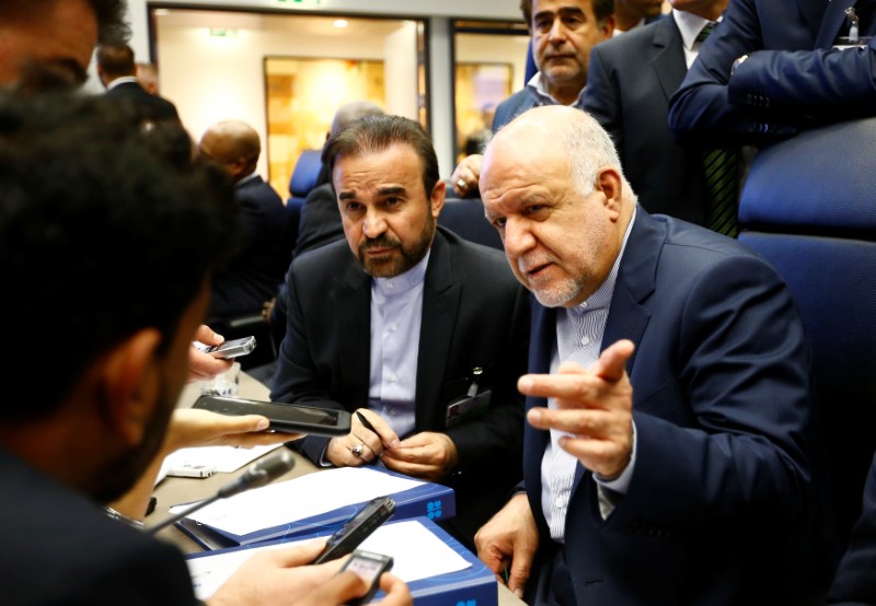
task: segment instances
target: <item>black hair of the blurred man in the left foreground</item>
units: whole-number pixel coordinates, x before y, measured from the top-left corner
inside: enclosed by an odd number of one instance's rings
[[[239,233],[231,184],[169,128],[100,96],[0,100],[0,317],[15,343],[3,373],[5,397],[27,401],[0,417],[51,411],[142,328],[164,351],[226,260]],[[20,385],[35,369],[38,397]]]

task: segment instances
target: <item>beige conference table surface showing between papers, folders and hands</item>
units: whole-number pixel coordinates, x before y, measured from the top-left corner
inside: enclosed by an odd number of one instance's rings
[[[187,385],[180,396],[177,406],[191,407],[200,395],[199,384]],[[240,373],[239,397],[250,398],[256,400],[268,399],[268,388],[246,374]],[[267,455],[266,455],[267,456]],[[312,474],[319,471],[319,468],[310,461],[292,453],[296,459],[296,465],[290,471],[283,475],[277,481],[288,480],[304,474]],[[188,503],[208,498],[216,493],[216,491],[237,476],[243,473],[243,469],[234,474],[214,474],[208,478],[177,478],[166,477],[155,488],[154,497],[157,499],[155,510],[146,518],[147,528],[161,523],[162,521],[171,517],[169,511],[173,505],[180,503]],[[195,553],[203,551],[203,548],[195,543],[188,535],[180,531],[176,526],[168,526],[161,529],[155,536],[176,545],[184,553]],[[499,606],[516,606],[525,604],[521,599],[515,596],[505,585],[498,584],[498,604]]]

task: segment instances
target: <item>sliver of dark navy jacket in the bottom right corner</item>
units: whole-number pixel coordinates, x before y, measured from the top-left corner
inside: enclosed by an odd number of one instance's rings
[[[861,518],[840,562],[829,604],[876,604],[876,457],[869,468]]]

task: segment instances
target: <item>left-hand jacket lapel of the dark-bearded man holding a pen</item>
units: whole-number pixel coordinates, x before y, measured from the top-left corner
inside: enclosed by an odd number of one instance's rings
[[[338,369],[354,404],[368,403],[371,381],[371,279],[353,260],[332,282],[337,313]]]

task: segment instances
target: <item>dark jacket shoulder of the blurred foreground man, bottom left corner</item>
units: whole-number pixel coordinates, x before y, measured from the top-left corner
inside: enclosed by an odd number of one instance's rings
[[[199,604],[176,548],[0,448],[3,604]]]

